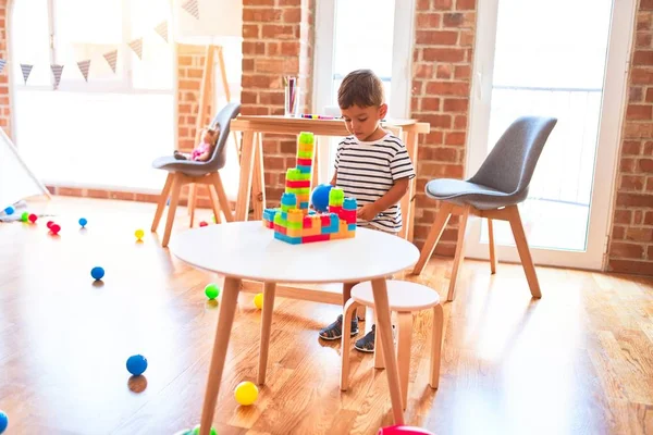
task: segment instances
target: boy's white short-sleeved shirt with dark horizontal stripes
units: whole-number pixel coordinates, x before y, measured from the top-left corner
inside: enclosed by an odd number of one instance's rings
[[[391,134],[370,142],[347,136],[337,146],[335,171],[335,185],[344,190],[345,196],[356,198],[358,208],[377,201],[397,179],[415,177],[404,142]],[[358,220],[358,224],[365,223]],[[398,233],[402,229],[399,203],[377,214],[369,224],[389,233]]]

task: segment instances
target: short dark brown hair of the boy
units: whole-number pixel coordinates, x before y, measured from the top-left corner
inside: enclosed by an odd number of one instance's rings
[[[371,70],[356,70],[343,78],[337,90],[337,105],[348,109],[352,105],[361,108],[383,104],[383,83]]]

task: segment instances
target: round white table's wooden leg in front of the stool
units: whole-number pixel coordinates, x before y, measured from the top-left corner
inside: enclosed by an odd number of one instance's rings
[[[397,364],[394,343],[392,340],[392,324],[390,322],[390,304],[387,302],[387,287],[385,279],[372,279],[374,294],[374,309],[377,311],[377,334],[381,337],[383,359],[385,360],[385,374],[390,387],[390,400],[395,424],[404,424],[404,407],[402,402],[402,387],[399,385],[399,370]]]

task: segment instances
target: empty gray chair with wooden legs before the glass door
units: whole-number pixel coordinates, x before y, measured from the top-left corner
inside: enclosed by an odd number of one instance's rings
[[[441,178],[427,184],[427,196],[441,200],[442,204],[412,273],[421,273],[452,214],[460,215],[447,300],[452,301],[455,297],[469,214],[488,219],[492,273],[496,272],[492,220],[509,222],[531,295],[534,298],[542,297],[517,204],[528,196],[535,164],[556,123],[557,120],[552,117],[519,117],[502,135],[471,178]]]

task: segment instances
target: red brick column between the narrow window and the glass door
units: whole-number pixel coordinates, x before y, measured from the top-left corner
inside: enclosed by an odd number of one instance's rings
[[[418,150],[415,243],[421,247],[436,211],[427,182],[465,174],[476,0],[418,0],[415,25],[411,117],[432,128]],[[452,216],[436,253],[454,254],[457,223]]]

